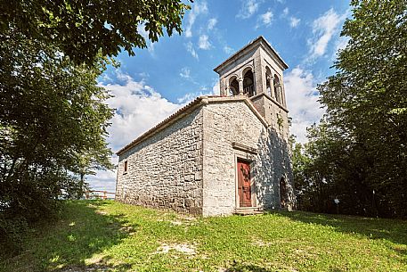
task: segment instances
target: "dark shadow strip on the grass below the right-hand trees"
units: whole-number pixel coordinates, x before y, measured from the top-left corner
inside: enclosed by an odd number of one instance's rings
[[[364,235],[370,239],[384,239],[393,243],[407,245],[407,220],[362,218],[305,211],[279,211],[278,213],[292,220],[330,226],[336,231],[346,234]],[[406,252],[403,251],[403,254],[406,254]]]

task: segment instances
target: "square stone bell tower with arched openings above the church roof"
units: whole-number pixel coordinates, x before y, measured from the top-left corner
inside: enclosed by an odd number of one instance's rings
[[[289,117],[283,70],[289,66],[264,37],[257,37],[214,70],[222,96],[246,95],[268,125],[288,143]]]

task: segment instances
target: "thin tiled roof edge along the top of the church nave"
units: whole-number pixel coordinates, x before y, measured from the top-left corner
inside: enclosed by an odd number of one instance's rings
[[[190,113],[191,111],[195,110],[202,104],[206,103],[233,103],[233,102],[244,102],[248,105],[248,108],[253,111],[253,113],[256,115],[256,117],[262,122],[262,124],[267,127],[267,122],[263,118],[263,116],[258,112],[254,106],[254,104],[248,99],[248,96],[246,95],[237,95],[237,96],[218,96],[218,95],[211,95],[211,96],[199,96],[195,98],[191,103],[186,104],[183,106],[181,109],[178,111],[175,111],[175,113],[171,114],[168,116],[165,120],[162,120],[157,124],[155,127],[149,129],[145,133],[143,133],[141,136],[137,137],[132,141],[130,144],[127,144],[125,147],[120,149],[118,152],[116,152],[117,155],[120,155],[127,150],[131,149],[137,144],[142,143],[142,141],[148,139],[149,137],[155,135],[159,131],[161,131],[164,128],[167,128],[171,124],[173,124],[176,120],[179,120],[183,118],[185,115]]]

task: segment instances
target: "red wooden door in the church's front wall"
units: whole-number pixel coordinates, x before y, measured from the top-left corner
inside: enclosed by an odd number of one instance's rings
[[[250,165],[238,161],[238,192],[240,207],[251,207]]]

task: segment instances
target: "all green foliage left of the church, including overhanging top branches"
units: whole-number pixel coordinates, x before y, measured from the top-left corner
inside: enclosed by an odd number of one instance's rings
[[[134,55],[165,30],[180,33],[188,8],[179,0],[0,2],[0,236],[9,244],[19,226],[57,211],[61,193],[80,190],[77,177],[111,167],[112,111],[97,78],[121,50]]]

